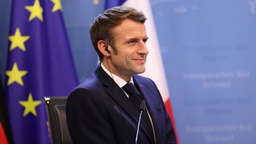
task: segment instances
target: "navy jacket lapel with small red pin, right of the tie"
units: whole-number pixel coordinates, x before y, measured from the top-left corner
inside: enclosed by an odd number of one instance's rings
[[[148,108],[149,114],[151,116],[153,127],[155,130],[155,137],[156,137],[156,143],[162,143],[161,142],[161,123],[157,120],[158,113],[155,108],[154,100],[152,100],[152,97],[158,97],[156,95],[152,95],[149,92],[149,87],[146,87],[146,85],[143,84],[140,79],[137,79],[136,76],[133,76],[133,82],[135,82],[137,89],[142,94],[142,97],[145,98],[146,101],[146,107]]]

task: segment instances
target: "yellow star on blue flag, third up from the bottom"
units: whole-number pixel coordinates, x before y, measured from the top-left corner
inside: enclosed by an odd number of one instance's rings
[[[19,47],[21,50],[25,52],[25,41],[30,39],[30,36],[22,36],[20,32],[20,28],[17,28],[15,34],[9,36],[9,40],[11,41],[10,51],[14,50],[16,47]]]

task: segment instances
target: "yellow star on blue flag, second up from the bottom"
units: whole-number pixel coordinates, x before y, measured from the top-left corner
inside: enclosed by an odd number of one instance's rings
[[[9,79],[8,79],[8,82],[7,82],[8,86],[11,85],[14,82],[17,82],[21,86],[24,85],[22,77],[27,74],[27,71],[20,71],[18,69],[17,63],[14,63],[14,65],[12,66],[11,71],[6,71],[5,73],[6,73],[7,76],[9,76]]]

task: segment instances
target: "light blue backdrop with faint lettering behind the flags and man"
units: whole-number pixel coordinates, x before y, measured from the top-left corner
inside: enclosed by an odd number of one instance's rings
[[[5,76],[11,2],[0,1]],[[97,65],[89,25],[101,0],[62,0],[79,81]],[[256,1],[151,0],[183,144],[256,143]],[[4,78],[2,78],[4,79]]]

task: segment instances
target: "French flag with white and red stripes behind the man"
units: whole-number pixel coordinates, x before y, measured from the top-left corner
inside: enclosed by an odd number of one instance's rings
[[[158,43],[158,37],[156,34],[155,23],[153,20],[152,9],[149,0],[106,0],[105,9],[116,7],[116,6],[127,6],[133,7],[142,11],[146,15],[146,31],[149,40],[146,46],[149,50],[149,54],[146,61],[146,71],[142,74],[148,78],[151,78],[157,85],[159,91],[161,92],[162,99],[165,103],[165,108],[169,114],[172,121],[172,126],[174,127],[174,132],[176,135],[177,143],[179,143],[177,130],[175,127],[174,116],[172,114],[171,101],[169,98],[169,90],[167,85],[167,79],[165,76],[164,65],[162,62],[162,56],[160,53],[160,47]]]

